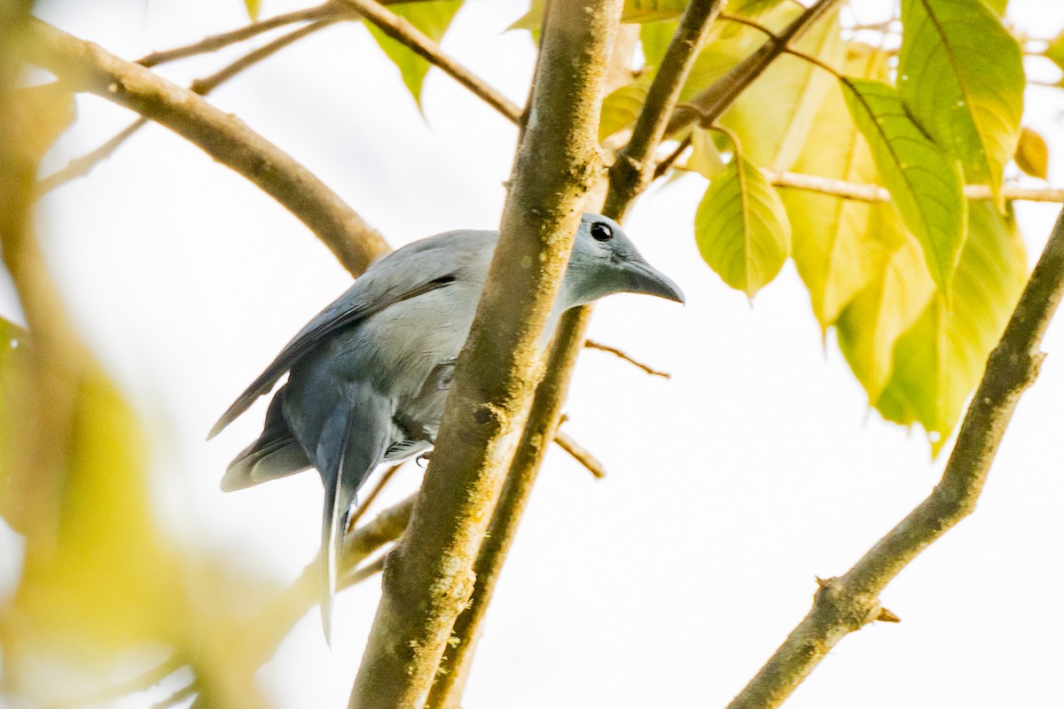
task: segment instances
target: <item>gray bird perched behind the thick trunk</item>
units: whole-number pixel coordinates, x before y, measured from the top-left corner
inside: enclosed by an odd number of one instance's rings
[[[229,465],[221,489],[317,468],[325,485],[327,638],[337,556],[355,494],[378,465],[434,443],[497,239],[498,232],[447,232],[373,261],[299,331],[207,436],[214,438],[288,373],[262,435]],[[562,313],[617,292],[683,302],[677,285],[643,259],[617,222],[585,214],[544,342]]]

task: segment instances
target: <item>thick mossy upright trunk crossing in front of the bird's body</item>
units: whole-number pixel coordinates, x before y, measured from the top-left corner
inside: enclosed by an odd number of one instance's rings
[[[435,453],[355,679],[353,709],[420,707],[472,592],[472,565],[537,379],[539,340],[598,176],[605,58],[620,0],[556,0],[530,119]]]

